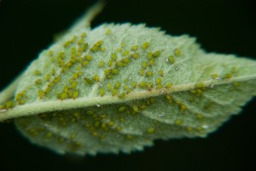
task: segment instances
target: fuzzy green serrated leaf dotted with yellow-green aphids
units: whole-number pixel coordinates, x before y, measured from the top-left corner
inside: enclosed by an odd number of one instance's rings
[[[206,53],[193,37],[81,19],[0,94],[0,121],[61,154],[130,153],[206,137],[252,99],[255,79],[255,60]]]

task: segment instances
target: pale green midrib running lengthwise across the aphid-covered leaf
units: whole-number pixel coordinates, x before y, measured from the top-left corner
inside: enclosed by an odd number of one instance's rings
[[[236,82],[246,82],[256,79],[256,75],[251,75],[247,77],[234,77],[229,80],[207,80],[203,83],[206,88],[210,88],[212,84],[214,87],[218,85],[236,83]],[[151,91],[142,90],[140,92],[134,92],[131,94],[127,94],[124,99],[120,99],[117,96],[112,95],[104,95],[103,97],[90,97],[87,96],[84,98],[78,98],[76,100],[51,100],[44,102],[34,102],[28,105],[19,105],[15,106],[12,109],[7,111],[0,111],[0,121],[4,121],[7,119],[12,119],[16,117],[26,117],[37,115],[44,112],[51,111],[66,111],[72,110],[75,108],[84,108],[93,105],[110,105],[110,104],[120,104],[125,103],[131,100],[141,100],[146,99],[152,96],[159,96],[165,94],[172,94],[175,92],[189,91],[193,88],[196,88],[197,83],[188,83],[183,85],[174,85],[172,88],[165,89],[152,89]]]

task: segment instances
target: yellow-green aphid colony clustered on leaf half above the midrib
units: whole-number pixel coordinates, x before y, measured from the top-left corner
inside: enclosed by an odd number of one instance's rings
[[[112,31],[107,29],[105,34],[110,36]],[[58,100],[79,98],[81,93],[77,87],[79,83],[81,84],[81,80],[84,80],[83,83],[87,86],[98,84],[100,86],[100,88],[98,88],[98,94],[100,96],[111,94],[121,99],[125,98],[127,94],[130,94],[136,88],[144,88],[148,89],[148,91],[152,91],[152,89],[168,90],[172,88],[173,83],[165,83],[165,72],[163,70],[153,71],[153,67],[155,63],[158,62],[159,58],[166,58],[166,62],[172,66],[178,58],[182,57],[182,52],[179,48],[175,48],[169,56],[161,56],[160,50],[148,50],[150,47],[149,41],[130,47],[127,47],[125,43],[121,43],[119,48],[109,53],[109,60],[100,60],[97,64],[92,64],[95,53],[100,51],[105,52],[108,51],[108,49],[103,46],[104,43],[102,40],[98,40],[96,43],[90,45],[86,42],[86,37],[86,33],[83,32],[80,36],[73,36],[63,44],[63,48],[69,49],[70,54],[54,52],[51,49],[48,50],[50,60],[56,63],[59,68],[53,68],[49,73],[46,73],[46,75],[43,75],[39,70],[34,71],[35,76],[38,77],[34,83],[38,87],[39,99],[43,100],[47,97],[54,86],[58,86],[56,84],[61,82],[61,75],[70,71],[71,68],[76,69],[73,71],[73,76],[69,78],[69,82],[62,88],[61,92],[55,92]],[[146,56],[143,56],[141,52],[146,54]],[[138,68],[138,71],[134,71],[133,74],[138,74],[140,77],[148,77],[149,79],[146,79],[148,81],[136,82],[133,81],[130,76],[129,79],[125,78],[116,83],[111,82],[113,77],[117,77],[119,72],[124,71],[125,66],[132,65],[132,62],[136,62],[135,60],[140,60],[141,67]],[[103,71],[104,74],[101,76],[98,74],[88,76],[90,73],[86,73],[86,67],[91,65],[95,65],[92,67],[95,67],[98,73]],[[212,79],[229,79],[234,74],[236,74],[235,67],[222,77],[219,77],[217,73],[213,73],[209,77]],[[204,88],[196,88],[197,86],[198,85],[195,86],[195,89],[191,90],[192,94],[202,94]],[[26,89],[17,94],[14,101],[9,101],[5,105],[1,105],[0,108],[9,109],[15,105],[24,105],[25,103]]]

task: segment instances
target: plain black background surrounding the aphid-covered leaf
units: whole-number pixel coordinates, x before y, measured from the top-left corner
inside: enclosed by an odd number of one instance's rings
[[[1,2],[1,0],[0,0]],[[95,1],[2,0],[0,3],[0,89],[67,29]],[[103,22],[147,23],[172,35],[198,37],[211,52],[256,59],[253,0],[113,1],[93,26]],[[131,155],[70,158],[31,145],[11,123],[0,124],[0,170],[256,170],[256,100],[207,139],[157,140]]]

